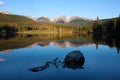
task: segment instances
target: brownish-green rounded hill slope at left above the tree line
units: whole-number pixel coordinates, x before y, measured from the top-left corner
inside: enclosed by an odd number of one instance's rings
[[[0,13],[0,22],[3,23],[31,23],[34,20],[25,16]]]

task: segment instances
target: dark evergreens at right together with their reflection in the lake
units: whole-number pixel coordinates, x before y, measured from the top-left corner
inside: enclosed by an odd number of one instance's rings
[[[93,41],[98,46],[106,44],[120,51],[120,17],[101,22],[99,18],[93,25]]]

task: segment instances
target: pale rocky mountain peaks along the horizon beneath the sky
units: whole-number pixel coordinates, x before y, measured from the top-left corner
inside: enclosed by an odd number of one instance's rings
[[[9,11],[1,11],[0,13],[7,14],[7,15],[15,15]],[[24,17],[30,18],[37,22],[51,22],[51,23],[75,23],[75,22],[90,22],[90,21],[96,20],[92,18],[85,18],[85,17],[79,17],[79,16],[72,16],[72,17],[59,16],[57,18],[49,18],[48,16],[42,16],[39,18],[35,18],[32,16],[24,16]]]

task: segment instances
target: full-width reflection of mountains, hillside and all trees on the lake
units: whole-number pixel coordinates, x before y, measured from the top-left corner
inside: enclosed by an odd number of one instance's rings
[[[98,45],[107,45],[110,48],[116,47],[118,53],[120,51],[119,36],[104,36],[102,38],[92,34],[16,34],[11,36],[0,36],[0,51],[3,52],[32,46],[48,47],[49,45],[56,45],[60,48],[65,48],[67,46],[79,47],[93,44],[96,44],[96,49],[98,48]]]

